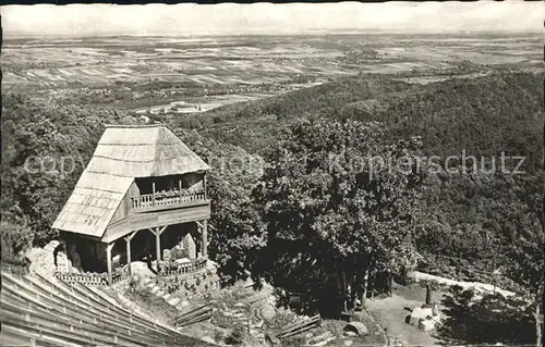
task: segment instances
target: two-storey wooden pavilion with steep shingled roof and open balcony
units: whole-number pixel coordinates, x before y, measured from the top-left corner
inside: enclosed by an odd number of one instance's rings
[[[165,249],[207,258],[208,170],[162,124],[107,126],[52,225],[72,265],[106,271],[111,284],[133,260],[154,258],[158,269]]]

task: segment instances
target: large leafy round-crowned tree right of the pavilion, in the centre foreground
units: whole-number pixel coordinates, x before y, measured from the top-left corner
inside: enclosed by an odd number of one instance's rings
[[[365,299],[366,278],[412,258],[426,171],[416,159],[421,144],[386,144],[382,135],[376,123],[303,122],[266,157],[254,195],[267,223],[267,280],[318,300],[337,284],[338,308],[347,309]]]

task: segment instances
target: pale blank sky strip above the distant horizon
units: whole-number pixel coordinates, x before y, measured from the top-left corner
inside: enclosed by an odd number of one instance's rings
[[[542,1],[70,4],[0,8],[5,37],[17,35],[231,35],[313,30],[393,33],[541,32]]]

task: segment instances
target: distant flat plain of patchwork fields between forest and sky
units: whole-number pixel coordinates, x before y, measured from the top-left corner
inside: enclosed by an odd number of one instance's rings
[[[426,84],[483,75],[487,65],[536,70],[540,45],[537,35],[493,34],[8,38],[2,86],[89,95],[137,113],[194,113],[358,73]]]

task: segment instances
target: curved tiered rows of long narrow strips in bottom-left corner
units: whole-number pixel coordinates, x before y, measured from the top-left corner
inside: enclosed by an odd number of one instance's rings
[[[82,284],[2,272],[1,346],[211,346]]]

